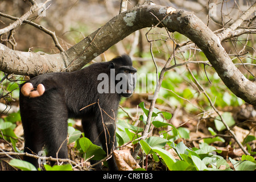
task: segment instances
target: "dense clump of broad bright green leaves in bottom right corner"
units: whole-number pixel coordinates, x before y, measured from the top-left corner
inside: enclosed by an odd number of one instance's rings
[[[200,148],[188,148],[183,142],[175,144],[158,137],[150,138],[140,141],[144,152],[146,155],[153,154],[154,152],[157,153],[170,170],[212,171],[221,170],[221,166],[225,166],[225,170],[232,170],[226,160],[222,156],[217,155],[217,153],[220,154],[222,151],[206,143],[201,143]],[[174,159],[167,150],[163,149],[166,143],[175,150],[180,159]],[[229,160],[237,171],[254,171],[256,169],[255,160],[252,156],[243,155],[242,160],[238,162],[231,158]]]

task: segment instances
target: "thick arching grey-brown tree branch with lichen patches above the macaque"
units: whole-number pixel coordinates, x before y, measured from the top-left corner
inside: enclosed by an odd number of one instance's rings
[[[168,7],[154,3],[136,6],[115,16],[67,51],[54,55],[13,51],[0,44],[0,70],[18,75],[75,71],[132,32],[156,25],[161,20],[159,27],[164,26],[170,32],[177,31],[191,39],[207,56],[225,85],[236,96],[256,106],[256,85],[243,76],[232,63],[221,46],[220,38],[193,13],[177,10],[167,14],[167,9]]]

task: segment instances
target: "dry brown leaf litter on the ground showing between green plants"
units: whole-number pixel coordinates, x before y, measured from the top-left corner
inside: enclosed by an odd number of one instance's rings
[[[131,104],[126,102],[126,106],[131,107]],[[158,105],[156,105],[158,107]],[[161,106],[159,106],[161,107]],[[163,110],[163,108],[161,108]],[[165,108],[168,109],[168,108]],[[236,134],[237,138],[240,140],[241,143],[244,142],[245,138],[248,135],[256,136],[256,110],[253,106],[243,104],[239,107],[226,107],[224,112],[229,112],[232,114],[234,121],[236,121],[236,125],[231,127],[231,130]],[[189,130],[189,138],[178,138],[175,140],[175,143],[183,142],[185,146],[187,147],[197,147],[199,148],[199,144],[203,142],[205,138],[212,138],[213,136],[210,134],[208,128],[211,127],[213,130],[216,130],[216,126],[214,125],[214,117],[199,119],[198,113],[187,113],[184,109],[176,108],[172,111],[172,118],[171,121],[169,121],[174,125],[175,127],[185,127]],[[76,129],[81,129],[80,122],[76,123],[76,126],[74,126]],[[151,135],[158,135],[159,131],[162,129],[154,129],[152,130]],[[23,138],[23,128],[20,121],[16,122],[16,128],[14,129],[14,133],[16,136],[20,137],[18,139],[18,142],[16,143],[16,146],[19,148],[19,150],[23,150],[24,147],[24,140]],[[234,160],[241,160],[241,156],[244,154],[244,152],[241,150],[241,148],[238,146],[237,142],[230,137],[230,134],[228,131],[223,130],[218,132],[218,135],[221,135],[222,138],[225,140],[225,142],[214,142],[211,145],[214,146],[217,150],[221,150],[221,155],[226,161],[229,163],[230,168],[233,168],[232,163],[228,160],[228,158],[232,158]],[[72,147],[74,144],[69,144],[69,149],[72,151]],[[245,148],[247,147],[251,148],[251,151],[256,152],[256,140],[252,140],[250,142],[247,142],[244,144]],[[3,140],[0,138],[0,147],[3,151],[13,151],[13,148],[11,148],[11,144],[7,143],[6,140]],[[127,145],[127,147],[123,147],[121,149],[131,149],[131,145]],[[132,150],[132,149],[131,149]],[[173,150],[170,150],[171,154],[174,156],[174,158],[177,158],[176,153]],[[71,158],[75,159],[77,158],[76,152],[71,152],[70,155]],[[255,155],[253,155],[255,158]],[[81,158],[80,158],[81,159]],[[6,166],[5,162],[8,162],[10,160],[7,156],[1,156],[1,170],[10,170],[13,168],[10,168],[10,166]],[[82,159],[81,159],[82,160]],[[5,162],[4,162],[5,161]],[[154,169],[157,170],[166,170],[166,167],[163,166],[161,162],[156,164],[157,167],[154,167]],[[148,166],[148,170],[150,170],[150,165]]]

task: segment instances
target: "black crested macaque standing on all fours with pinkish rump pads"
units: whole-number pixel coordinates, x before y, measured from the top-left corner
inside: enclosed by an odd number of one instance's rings
[[[133,94],[136,72],[130,57],[122,55],[80,71],[47,73],[24,82],[19,96],[24,152],[38,154],[45,146],[48,156],[68,159],[67,120],[81,118],[85,137],[110,154],[116,147],[119,101]],[[37,159],[24,160],[39,166]],[[110,170],[118,170],[114,157],[108,164]]]

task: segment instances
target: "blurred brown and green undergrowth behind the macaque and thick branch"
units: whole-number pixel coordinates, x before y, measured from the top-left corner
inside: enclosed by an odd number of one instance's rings
[[[128,9],[138,3],[129,2]],[[208,14],[208,5],[211,1],[182,1],[182,4],[181,1],[154,2],[158,5],[194,11],[211,30],[218,32],[223,27],[229,27],[255,1],[213,1],[217,5],[216,16]],[[117,15],[119,5],[120,2],[115,0],[56,0],[47,10],[46,16],[31,19],[55,31],[61,46],[68,49]],[[0,2],[1,12],[16,17],[23,15],[28,7],[28,1]],[[13,21],[0,16],[0,28],[11,22]],[[246,20],[245,24],[247,27],[255,28],[255,15]],[[147,38],[154,41],[150,43]],[[255,34],[243,34],[222,42],[233,62],[250,80],[255,80],[255,38]],[[139,142],[142,148],[137,163],[138,169],[141,170],[255,170],[255,107],[246,104],[230,92],[209,64],[184,64],[164,74],[149,135],[146,139],[139,140],[151,102],[148,98],[152,96],[156,86],[156,78],[146,77],[147,73],[156,73],[156,69],[160,72],[174,51],[174,42],[188,41],[183,35],[176,32],[168,33],[164,28],[145,28],[134,32],[92,61],[106,61],[122,53],[128,53],[133,58],[134,67],[140,76],[135,94],[128,99],[123,98],[120,103],[117,122],[119,150],[133,151]],[[20,51],[59,52],[50,36],[28,24],[22,24],[14,31],[2,35],[1,43]],[[152,56],[157,67],[152,61]],[[184,61],[208,60],[195,44],[189,44],[175,53],[172,65],[175,64],[174,61],[179,64]],[[1,72],[2,170],[10,169],[3,165],[5,162],[19,169],[35,170],[29,164],[18,160],[22,158],[18,153],[23,154],[24,147],[18,107],[18,84],[26,79],[24,76],[6,75]],[[153,86],[147,83],[153,83]],[[143,92],[144,88],[147,88],[146,92]],[[248,154],[242,151],[234,137],[226,130],[222,119]],[[79,120],[69,120],[68,133],[70,164],[53,167],[45,165],[46,170],[86,170],[90,168],[88,159],[106,159],[100,147],[94,146],[82,137]],[[12,155],[11,152],[15,152],[16,155]],[[10,161],[13,158],[17,159]],[[107,166],[106,163],[105,165]]]

